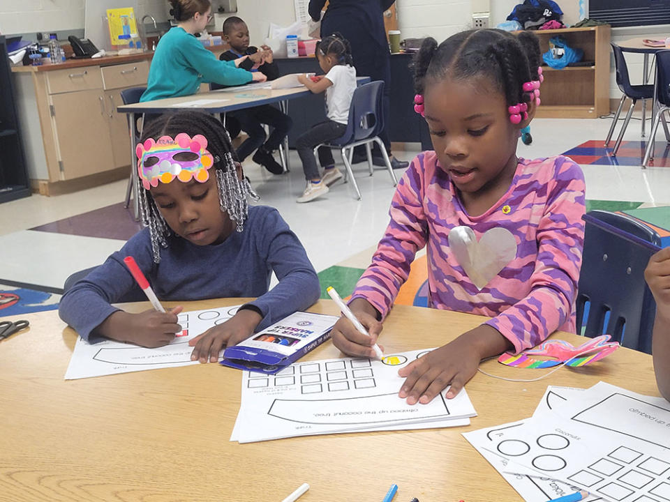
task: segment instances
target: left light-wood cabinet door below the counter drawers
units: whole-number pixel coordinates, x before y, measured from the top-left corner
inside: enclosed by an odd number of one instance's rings
[[[50,101],[61,180],[113,169],[102,89],[53,94]]]

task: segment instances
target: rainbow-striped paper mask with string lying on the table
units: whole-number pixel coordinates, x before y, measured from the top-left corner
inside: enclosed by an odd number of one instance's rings
[[[619,347],[619,342],[609,342],[609,335],[591,338],[585,344],[574,347],[564,340],[546,340],[535,349],[528,349],[519,354],[505,352],[498,358],[498,363],[523,368],[549,368],[565,363],[566,366],[580,367],[609,356]],[[533,356],[546,356],[553,359],[542,360]]]

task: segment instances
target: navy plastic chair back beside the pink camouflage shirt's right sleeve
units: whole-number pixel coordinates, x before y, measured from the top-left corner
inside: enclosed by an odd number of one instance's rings
[[[644,269],[651,255],[660,250],[660,236],[630,216],[609,211],[589,211],[583,220],[577,333],[581,334],[588,310],[584,335],[611,335],[623,347],[651,353],[656,303],[644,280]]]

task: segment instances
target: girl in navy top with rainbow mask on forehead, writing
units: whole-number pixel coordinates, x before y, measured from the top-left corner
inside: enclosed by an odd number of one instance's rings
[[[191,340],[191,359],[202,363],[318,299],[314,268],[276,209],[247,207],[253,192],[220,122],[198,112],[159,116],[145,126],[137,158],[147,228],[61,299],[61,319],[84,340],[103,336],[158,347],[181,330],[181,307],[128,314],[110,305],[142,300],[126,256],[135,258],[161,300],[258,297]],[[268,291],[272,272],[279,283]]]

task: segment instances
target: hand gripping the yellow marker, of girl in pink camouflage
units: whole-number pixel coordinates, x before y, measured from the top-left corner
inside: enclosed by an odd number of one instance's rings
[[[356,298],[350,303],[349,308],[356,319],[365,326],[370,336],[359,333],[349,319],[341,317],[331,331],[333,344],[348,356],[375,358],[372,346],[382,332],[382,324],[377,320],[377,310],[363,298]],[[384,350],[381,346],[380,349]]]

